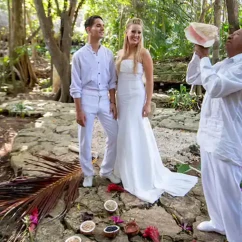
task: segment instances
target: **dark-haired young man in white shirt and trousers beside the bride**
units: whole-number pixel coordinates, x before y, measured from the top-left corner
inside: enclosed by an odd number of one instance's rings
[[[112,183],[120,183],[113,174],[117,146],[117,109],[115,103],[116,72],[112,52],[100,44],[104,23],[100,16],[85,22],[88,43],[73,55],[70,94],[76,106],[79,157],[84,173],[84,187],[93,184],[91,143],[97,117],[107,135],[106,150],[100,175]],[[109,95],[108,95],[109,94]]]

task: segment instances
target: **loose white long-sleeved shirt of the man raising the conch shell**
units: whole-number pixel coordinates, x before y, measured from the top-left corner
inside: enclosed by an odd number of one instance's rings
[[[242,54],[211,65],[194,54],[187,82],[203,85],[198,144],[242,166]]]

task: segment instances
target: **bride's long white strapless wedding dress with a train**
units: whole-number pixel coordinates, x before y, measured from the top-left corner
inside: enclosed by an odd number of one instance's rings
[[[123,60],[118,76],[118,145],[115,174],[124,189],[153,203],[163,192],[184,196],[197,177],[171,172],[164,167],[148,118],[142,117],[145,87],[143,65],[133,74],[133,60]],[[175,142],[175,141],[174,141]]]

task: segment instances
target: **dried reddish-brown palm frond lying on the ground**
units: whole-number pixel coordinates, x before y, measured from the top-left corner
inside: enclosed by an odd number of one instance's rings
[[[78,196],[78,187],[82,179],[79,162],[65,163],[55,158],[38,156],[42,160],[26,161],[43,171],[48,177],[18,177],[9,182],[0,183],[0,216],[4,220],[16,219],[19,234],[23,229],[22,219],[35,208],[38,209],[39,221],[55,207],[63,196],[68,211]],[[28,169],[29,170],[29,169]],[[7,221],[4,221],[5,223]]]

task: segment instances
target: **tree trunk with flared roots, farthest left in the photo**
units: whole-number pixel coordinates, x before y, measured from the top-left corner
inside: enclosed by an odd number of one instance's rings
[[[25,27],[23,18],[24,0],[12,0],[10,58],[20,74],[20,79],[26,87],[33,87],[37,82],[25,45]]]

